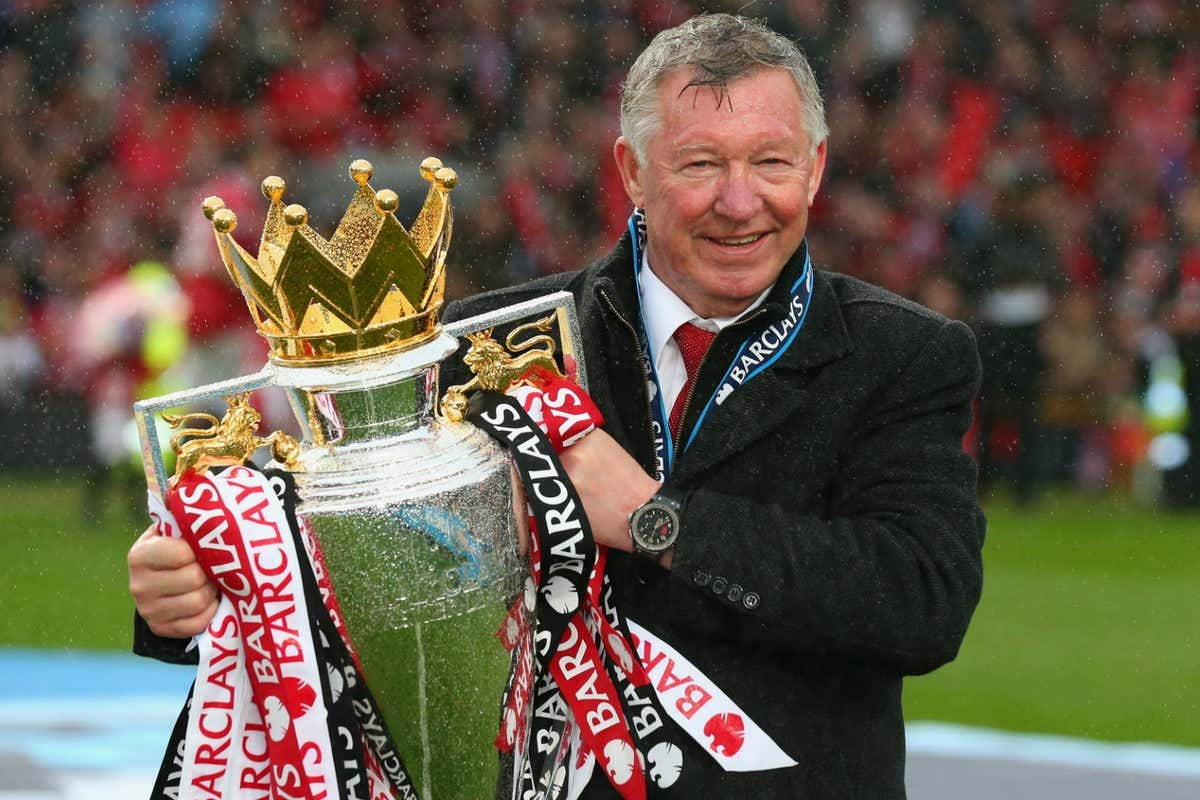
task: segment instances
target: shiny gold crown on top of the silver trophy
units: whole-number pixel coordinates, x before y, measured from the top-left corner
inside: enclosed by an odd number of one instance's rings
[[[421,162],[430,182],[410,230],[396,221],[400,198],[376,192],[371,163],[350,164],[354,198],[330,239],[308,227],[302,205],[283,205],[287,188],[263,181],[271,201],[256,259],[230,235],[238,217],[218,197],[204,200],[221,258],[246,296],[258,332],[280,365],[329,365],[403,350],[438,335],[455,172]]]

